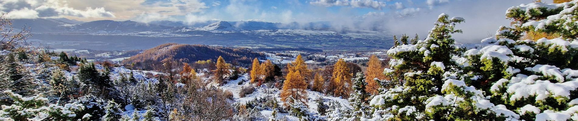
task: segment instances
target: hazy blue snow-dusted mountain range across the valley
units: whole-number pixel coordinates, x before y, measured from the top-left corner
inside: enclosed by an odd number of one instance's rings
[[[208,23],[211,22],[211,23]],[[391,46],[385,31],[335,29],[329,22],[182,21],[15,19],[13,26],[27,26],[31,40],[52,48],[132,50],[165,43],[204,44],[248,48],[313,48],[322,50],[377,50]]]

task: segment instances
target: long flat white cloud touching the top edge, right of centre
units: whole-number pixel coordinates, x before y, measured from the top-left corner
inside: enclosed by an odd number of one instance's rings
[[[387,6],[386,2],[375,0],[316,0],[309,3],[320,6],[368,7],[377,10],[381,10],[382,7]]]

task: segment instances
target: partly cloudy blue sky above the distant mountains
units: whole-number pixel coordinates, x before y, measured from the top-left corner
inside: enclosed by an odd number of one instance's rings
[[[221,21],[330,22],[334,28],[379,28],[427,36],[437,16],[464,17],[464,42],[509,25],[509,7],[532,0],[0,0],[0,13],[18,18],[112,19],[186,24]],[[551,3],[549,1],[543,1]]]

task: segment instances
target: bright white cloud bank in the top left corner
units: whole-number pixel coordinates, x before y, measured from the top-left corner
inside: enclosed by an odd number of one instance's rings
[[[75,9],[66,1],[60,0],[0,0],[0,13],[12,19],[34,18],[113,18],[111,11],[103,7],[85,7],[84,10]]]

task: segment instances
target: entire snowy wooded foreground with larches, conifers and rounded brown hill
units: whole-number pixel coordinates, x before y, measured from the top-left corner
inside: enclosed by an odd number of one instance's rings
[[[578,1],[554,2],[511,7],[476,44],[457,44],[466,20],[442,13],[424,40],[395,36],[388,63],[323,66],[181,44],[88,62],[0,19],[0,119],[578,120]]]

